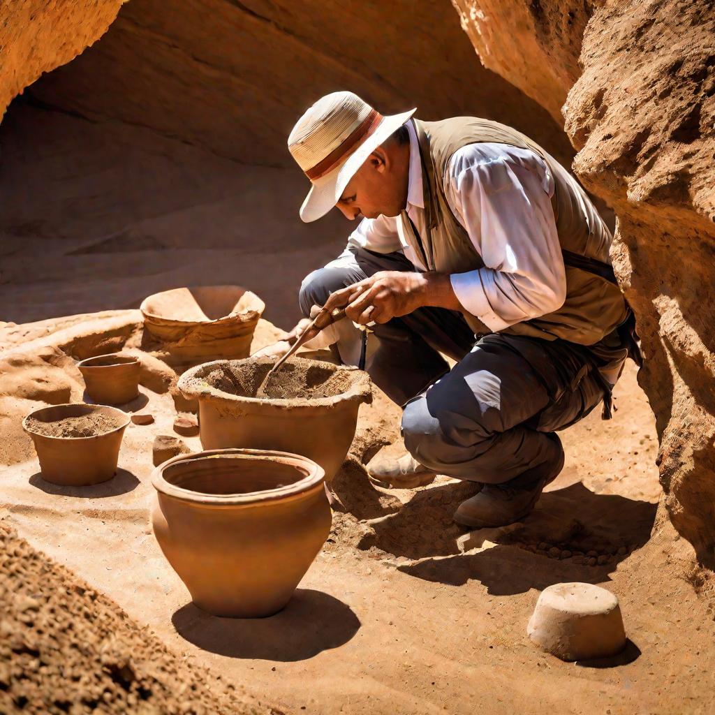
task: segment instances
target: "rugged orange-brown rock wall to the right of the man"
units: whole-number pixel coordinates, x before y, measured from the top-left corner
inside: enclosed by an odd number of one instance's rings
[[[618,217],[613,262],[646,355],[639,381],[656,415],[665,504],[713,568],[715,8],[710,0],[455,5],[487,66],[552,114],[568,94],[573,168]],[[523,19],[516,32],[506,24],[513,15]],[[560,74],[544,78],[545,58],[561,61]]]

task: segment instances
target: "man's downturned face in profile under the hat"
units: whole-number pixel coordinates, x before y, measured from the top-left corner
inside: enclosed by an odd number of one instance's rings
[[[350,220],[397,216],[407,204],[408,164],[393,154],[394,147],[378,147],[345,187],[337,207]]]

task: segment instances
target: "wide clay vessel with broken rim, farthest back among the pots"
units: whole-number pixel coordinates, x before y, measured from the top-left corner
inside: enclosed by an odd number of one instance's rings
[[[141,305],[144,327],[175,358],[245,358],[265,303],[237,285],[174,288]]]

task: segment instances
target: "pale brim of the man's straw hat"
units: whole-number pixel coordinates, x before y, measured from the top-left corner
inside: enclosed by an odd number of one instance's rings
[[[315,179],[300,207],[300,218],[305,223],[310,223],[325,216],[337,204],[350,179],[365,164],[370,154],[402,127],[416,111],[416,109],[410,109],[409,112],[383,117],[383,121],[378,124],[375,132],[358,145],[358,148],[349,154],[342,164],[338,164],[335,169],[320,179]]]

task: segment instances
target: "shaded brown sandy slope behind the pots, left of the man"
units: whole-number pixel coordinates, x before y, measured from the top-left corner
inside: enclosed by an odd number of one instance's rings
[[[0,154],[0,320],[139,307],[205,282],[253,290],[288,325],[302,278],[354,227],[337,211],[300,221],[310,184],[297,167],[251,167],[22,99],[0,124]]]

